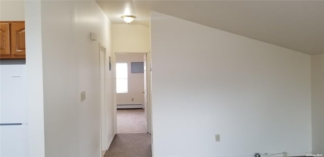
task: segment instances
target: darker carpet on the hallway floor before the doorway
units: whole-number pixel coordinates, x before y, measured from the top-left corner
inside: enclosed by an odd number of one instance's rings
[[[151,157],[148,133],[116,134],[104,157]]]

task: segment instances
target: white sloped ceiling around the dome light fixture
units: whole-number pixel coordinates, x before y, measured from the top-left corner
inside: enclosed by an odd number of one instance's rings
[[[315,55],[324,54],[324,1],[98,1],[113,24],[149,26],[150,10]],[[129,12],[129,13],[127,13]]]

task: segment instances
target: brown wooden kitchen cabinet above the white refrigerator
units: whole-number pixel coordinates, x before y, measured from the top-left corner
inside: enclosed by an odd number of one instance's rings
[[[25,22],[2,21],[0,59],[25,59]]]

